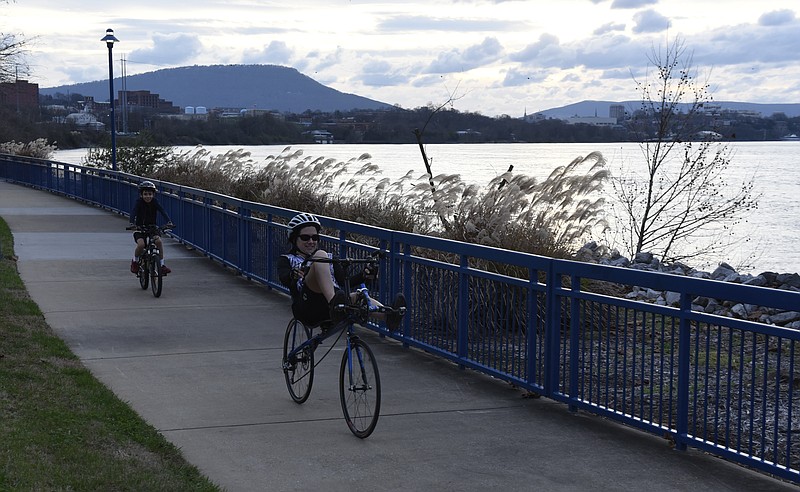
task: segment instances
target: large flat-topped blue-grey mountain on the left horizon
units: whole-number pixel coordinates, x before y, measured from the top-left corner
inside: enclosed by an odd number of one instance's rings
[[[339,92],[294,68],[278,65],[210,65],[166,68],[129,75],[129,91],[147,90],[175,106],[266,109],[280,112],[389,109],[380,101]],[[114,92],[122,81],[114,78]],[[108,101],[108,79],[39,89],[41,94],[75,93]]]

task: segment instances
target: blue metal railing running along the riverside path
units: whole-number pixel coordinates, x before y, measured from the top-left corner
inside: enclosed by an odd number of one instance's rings
[[[0,155],[0,178],[126,214],[135,176]],[[275,258],[295,211],[171,183],[159,200],[187,245],[286,291]],[[800,310],[800,293],[555,260],[323,218],[323,246],[389,251],[376,295],[401,291],[396,336],[463,367],[800,483],[800,332],[759,315]],[[357,241],[356,241],[357,239]],[[627,299],[634,286],[680,295]],[[697,296],[752,319],[707,314]],[[371,328],[389,335],[382,327]]]

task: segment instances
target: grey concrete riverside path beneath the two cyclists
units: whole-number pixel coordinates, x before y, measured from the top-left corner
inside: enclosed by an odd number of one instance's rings
[[[309,400],[280,370],[288,298],[166,241],[162,297],[129,272],[126,218],[0,181],[19,271],[83,363],[231,491],[797,490],[365,333],[382,415],[350,434],[339,347]]]

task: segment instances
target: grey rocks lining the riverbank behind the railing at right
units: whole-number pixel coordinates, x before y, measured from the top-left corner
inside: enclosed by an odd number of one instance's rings
[[[680,262],[661,263],[652,253],[639,253],[631,261],[617,251],[607,252],[604,247],[594,241],[584,245],[576,254],[575,259],[600,265],[800,292],[800,275],[797,273],[740,274],[727,263],[720,263],[713,272],[709,273],[696,270]],[[677,306],[680,301],[679,294],[675,292],[656,291],[638,286],[632,287],[625,297],[662,306]],[[692,310],[800,330],[799,311],[780,311],[766,306],[735,303],[704,296],[698,296],[692,300]]]

